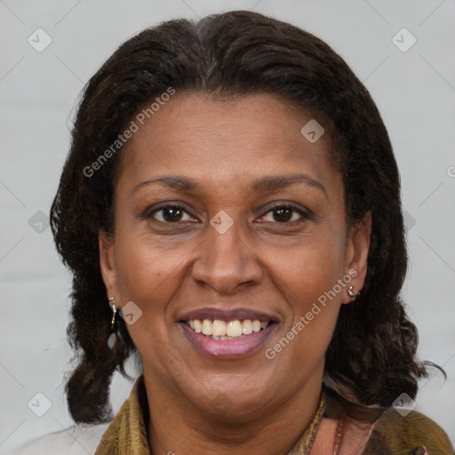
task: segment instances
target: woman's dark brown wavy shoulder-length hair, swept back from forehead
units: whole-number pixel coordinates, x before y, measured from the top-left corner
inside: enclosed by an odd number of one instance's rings
[[[358,403],[391,407],[417,394],[424,363],[417,329],[399,292],[407,268],[400,177],[386,127],[371,95],[322,40],[254,12],[170,20],[122,44],[84,88],[71,148],[51,208],[57,251],[73,275],[68,339],[76,368],[67,383],[76,422],[112,418],[109,386],[138,356],[122,318],[123,339],[108,347],[111,312],[100,273],[98,234],[113,232],[113,191],[121,149],[100,169],[84,170],[115,143],[146,104],[172,87],[213,97],[273,93],[304,108],[330,132],[341,172],[347,224],[372,215],[368,272],[360,296],[342,305],[325,371]]]

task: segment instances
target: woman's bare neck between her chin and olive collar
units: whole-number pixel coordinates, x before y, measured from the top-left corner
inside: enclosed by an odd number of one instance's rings
[[[286,454],[315,417],[322,374],[309,379],[280,403],[226,415],[189,403],[153,373],[144,371],[150,419],[148,442],[153,455],[269,455]]]

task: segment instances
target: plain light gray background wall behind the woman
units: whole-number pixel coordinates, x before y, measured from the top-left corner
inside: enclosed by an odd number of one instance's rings
[[[235,9],[263,12],[320,36],[377,102],[395,147],[409,227],[403,298],[419,328],[420,357],[449,375],[445,383],[440,374],[423,381],[417,410],[455,441],[453,0],[0,0],[0,452],[73,424],[62,386],[72,355],[65,333],[70,276],[36,212],[49,212],[79,92],[142,28]],[[28,44],[36,28],[52,37],[44,52]],[[402,28],[417,39],[407,52],[393,42]],[[410,36],[398,39],[410,43]],[[116,376],[115,411],[131,387]],[[37,392],[52,402],[41,418],[28,409]]]

